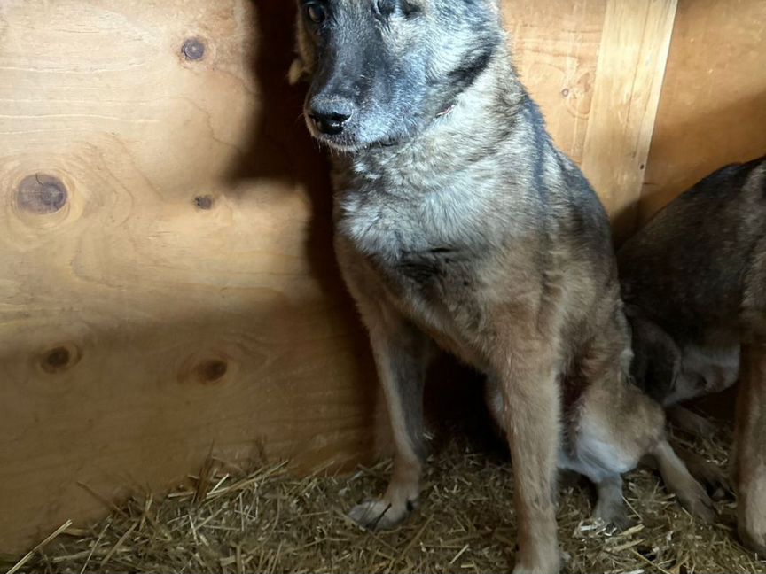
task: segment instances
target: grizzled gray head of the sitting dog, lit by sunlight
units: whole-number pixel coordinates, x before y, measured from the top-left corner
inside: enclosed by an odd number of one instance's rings
[[[298,0],[311,134],[356,151],[448,112],[504,43],[497,0]]]

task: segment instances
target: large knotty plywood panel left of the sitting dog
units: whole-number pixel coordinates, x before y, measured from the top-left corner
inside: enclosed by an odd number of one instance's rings
[[[0,3],[0,551],[211,452],[370,453],[292,22],[282,0]]]

